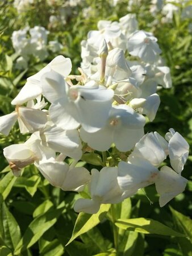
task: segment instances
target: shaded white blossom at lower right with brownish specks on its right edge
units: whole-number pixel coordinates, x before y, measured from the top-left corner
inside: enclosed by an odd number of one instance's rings
[[[158,169],[148,160],[135,158],[132,163],[120,161],[118,164],[118,184],[122,191],[133,194],[138,189],[155,183]]]

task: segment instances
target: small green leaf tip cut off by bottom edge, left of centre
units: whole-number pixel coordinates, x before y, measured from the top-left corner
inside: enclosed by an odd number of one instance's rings
[[[47,246],[40,251],[40,256],[62,256],[64,253],[64,247],[61,245],[59,240],[55,239],[48,243]]]

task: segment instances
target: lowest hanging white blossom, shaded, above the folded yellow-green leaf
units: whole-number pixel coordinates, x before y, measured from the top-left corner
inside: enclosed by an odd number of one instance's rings
[[[116,167],[104,167],[100,172],[92,169],[89,186],[91,199],[78,199],[74,204],[74,210],[94,214],[98,212],[101,204],[116,204],[123,201],[128,197],[128,193],[121,191],[117,177]]]

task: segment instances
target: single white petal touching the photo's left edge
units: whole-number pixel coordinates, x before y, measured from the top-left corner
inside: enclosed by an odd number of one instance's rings
[[[9,135],[10,130],[14,125],[14,123],[16,122],[17,118],[18,118],[18,113],[16,113],[15,111],[0,117],[0,133],[6,136]]]

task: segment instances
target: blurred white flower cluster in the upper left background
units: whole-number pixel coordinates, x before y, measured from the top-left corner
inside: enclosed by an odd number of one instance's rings
[[[26,27],[23,30],[12,33],[12,46],[15,52],[20,55],[16,60],[16,68],[27,68],[27,63],[31,55],[42,61],[48,56],[48,49],[52,52],[62,49],[61,44],[57,40],[48,42],[48,34],[49,31],[40,26],[35,26],[34,28]]]

